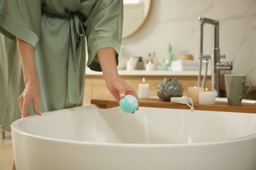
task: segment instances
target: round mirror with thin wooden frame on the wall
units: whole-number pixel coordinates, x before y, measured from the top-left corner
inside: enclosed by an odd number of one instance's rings
[[[152,0],[123,0],[123,39],[137,33],[144,25]]]

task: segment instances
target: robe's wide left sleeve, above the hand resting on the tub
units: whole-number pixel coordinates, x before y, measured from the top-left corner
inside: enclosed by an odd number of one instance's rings
[[[0,0],[0,32],[36,46],[41,33],[41,0]]]

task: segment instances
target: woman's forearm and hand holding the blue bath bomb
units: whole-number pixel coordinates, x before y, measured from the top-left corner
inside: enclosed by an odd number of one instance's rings
[[[126,94],[130,94],[138,99],[135,90],[118,75],[115,50],[113,48],[102,48],[98,50],[97,54],[106,86],[114,98],[119,102]]]

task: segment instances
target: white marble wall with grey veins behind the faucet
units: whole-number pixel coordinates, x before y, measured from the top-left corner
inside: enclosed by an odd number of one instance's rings
[[[148,21],[121,46],[119,69],[129,56],[156,52],[158,61],[168,43],[176,58],[192,54],[198,59],[200,23],[198,16],[219,20],[223,61],[233,61],[233,74],[246,74],[256,85],[256,0],[153,0]],[[205,25],[204,54],[211,53],[211,25]]]

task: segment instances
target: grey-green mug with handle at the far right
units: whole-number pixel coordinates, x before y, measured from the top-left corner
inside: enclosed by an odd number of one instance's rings
[[[240,106],[242,99],[251,92],[251,82],[246,81],[246,75],[224,75],[224,80],[228,105]],[[244,93],[245,82],[249,84],[249,88]]]

